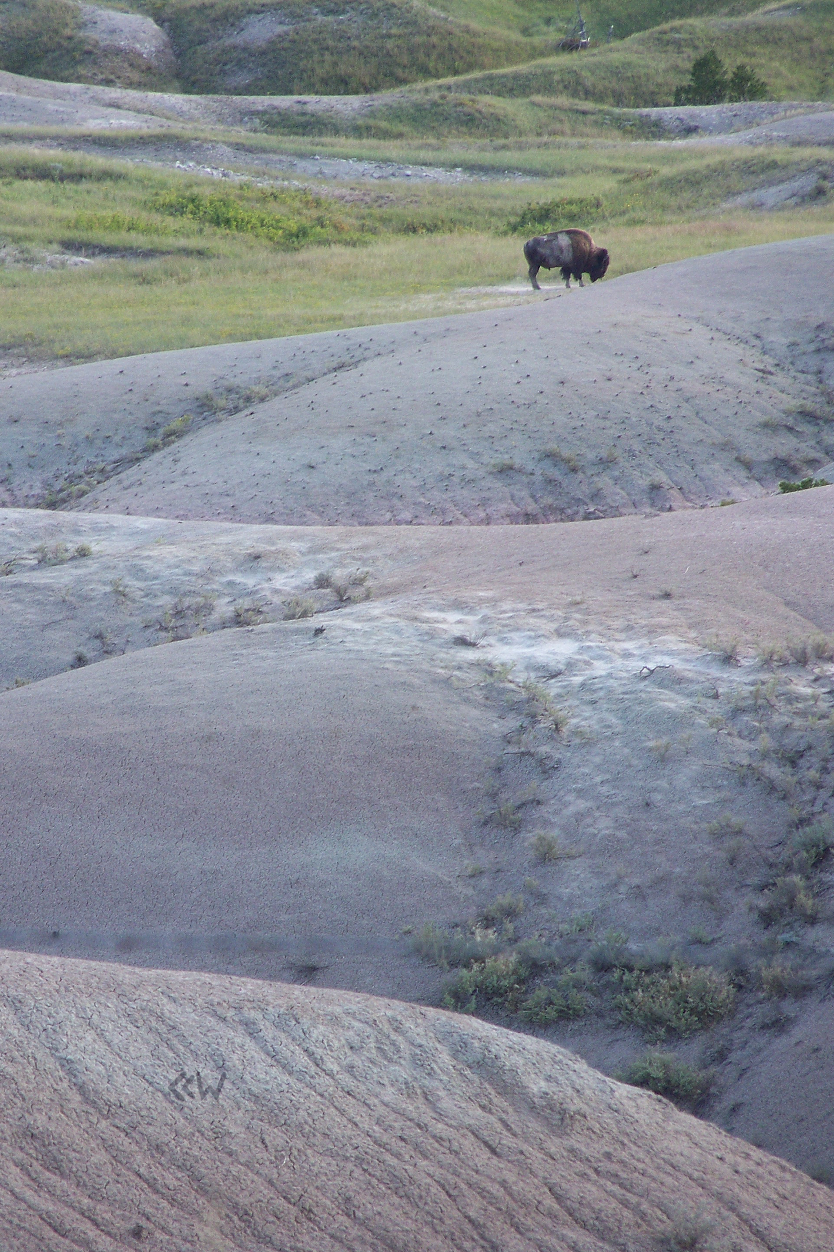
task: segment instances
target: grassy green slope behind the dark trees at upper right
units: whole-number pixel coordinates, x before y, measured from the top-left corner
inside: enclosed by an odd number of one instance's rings
[[[448,86],[468,94],[568,96],[620,108],[671,104],[695,56],[710,48],[729,64],[754,65],[770,99],[834,96],[834,0],[760,9],[739,18],[675,21],[581,55],[469,75]]]

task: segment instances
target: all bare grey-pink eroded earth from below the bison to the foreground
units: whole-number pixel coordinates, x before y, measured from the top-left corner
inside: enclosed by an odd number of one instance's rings
[[[773,481],[831,459],[830,249],[3,381],[4,1252],[828,1252],[826,845],[775,901],[834,808],[834,488]],[[593,525],[356,525],[396,482],[541,518],[488,457],[545,437],[548,516]],[[586,970],[586,1012],[444,1012],[425,923]],[[659,1038],[616,960],[731,1012]],[[616,1080],[648,1047],[709,1075],[698,1118]]]

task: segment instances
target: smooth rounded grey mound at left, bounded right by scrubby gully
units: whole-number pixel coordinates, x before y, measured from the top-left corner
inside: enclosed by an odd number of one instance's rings
[[[279,977],[324,953],[336,985],[411,995],[399,928],[470,903],[500,740],[414,657],[224,632],[9,692],[3,714],[3,923],[24,942],[159,960],[188,933],[186,965]]]

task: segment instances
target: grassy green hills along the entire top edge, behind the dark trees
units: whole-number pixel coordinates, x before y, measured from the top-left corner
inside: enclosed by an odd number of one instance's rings
[[[715,48],[725,60],[753,64],[773,99],[834,94],[834,0],[795,8],[763,8],[760,0],[588,0],[583,13],[593,46],[579,55],[556,50],[575,14],[570,0],[555,8],[544,0],[364,0],[359,8],[350,0],[280,6],[276,0],[119,0],[116,6],[146,13],[170,33],[175,80],[158,81],[135,56],[114,61],[93,51],[68,0],[0,0],[0,68],[233,94],[373,93],[448,80],[448,90],[468,96],[570,98],[630,108],[671,103],[694,58]],[[606,44],[609,28],[614,39]],[[431,95],[435,104],[424,103],[423,115],[414,105],[400,106],[399,115],[388,106],[391,115],[383,110],[375,133],[391,134],[391,125],[416,133],[431,125],[429,113],[443,120],[436,86]],[[480,103],[468,111],[460,133],[511,133],[506,110]],[[383,124],[388,131],[379,129]]]

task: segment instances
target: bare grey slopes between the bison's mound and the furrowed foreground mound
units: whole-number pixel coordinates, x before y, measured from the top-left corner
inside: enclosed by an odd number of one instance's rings
[[[0,697],[0,942],[438,1003],[411,935],[523,900],[516,938],[566,963],[616,930],[733,970],[735,1013],[665,1047],[711,1072],[705,1116],[830,1177],[829,863],[811,919],[758,908],[834,795],[811,647],[833,510],[820,488],[593,526],[6,512],[6,685],[68,672]],[[570,856],[540,864],[536,831]],[[764,994],[774,964],[803,994]],[[645,1049],[605,997],[494,1017],[609,1073]]]

